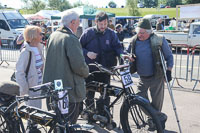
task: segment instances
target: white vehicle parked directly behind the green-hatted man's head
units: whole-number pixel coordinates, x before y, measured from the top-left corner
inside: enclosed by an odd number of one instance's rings
[[[169,16],[168,15],[159,15],[159,14],[149,14],[149,15],[145,15],[143,18],[149,19],[149,21],[151,22],[152,27],[155,28],[157,20],[159,18],[167,19],[167,18],[169,18]]]

